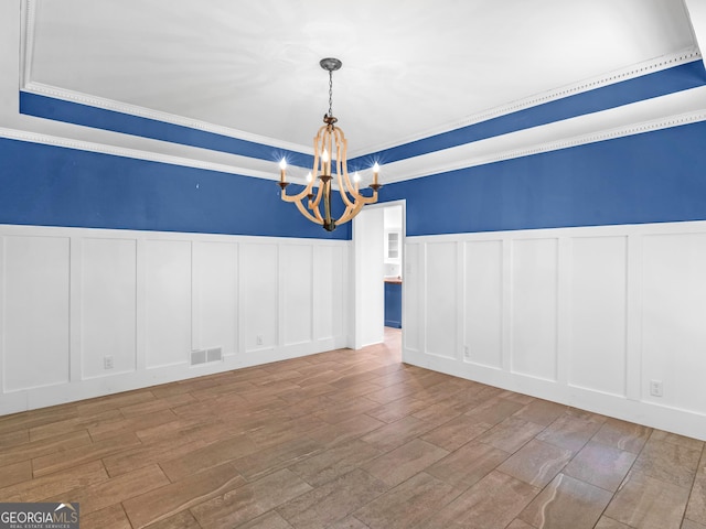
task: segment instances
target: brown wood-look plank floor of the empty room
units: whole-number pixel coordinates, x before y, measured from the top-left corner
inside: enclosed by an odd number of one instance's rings
[[[706,529],[703,442],[399,338],[2,417],[0,501],[78,501],[83,529]]]

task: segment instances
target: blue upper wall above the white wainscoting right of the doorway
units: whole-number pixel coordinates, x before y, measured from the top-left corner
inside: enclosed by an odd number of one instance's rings
[[[386,185],[407,235],[706,219],[706,122]]]

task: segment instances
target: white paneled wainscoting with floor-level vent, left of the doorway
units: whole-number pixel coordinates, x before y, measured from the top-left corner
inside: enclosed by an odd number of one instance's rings
[[[0,414],[349,343],[350,241],[7,225],[0,238]],[[191,365],[212,348],[223,360]]]

